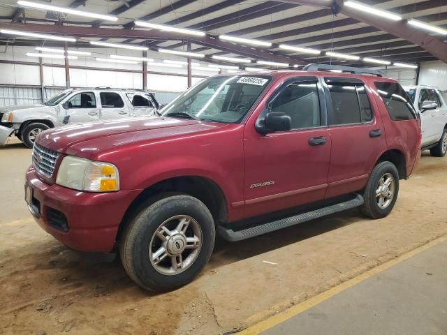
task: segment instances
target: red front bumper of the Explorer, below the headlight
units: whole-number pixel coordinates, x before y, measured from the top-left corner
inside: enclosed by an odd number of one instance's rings
[[[33,190],[29,209],[36,222],[63,244],[78,251],[112,251],[119,224],[131,202],[141,192],[75,191],[44,183],[32,167],[27,170],[26,183]],[[54,225],[50,219],[54,212],[66,218],[68,229]]]

